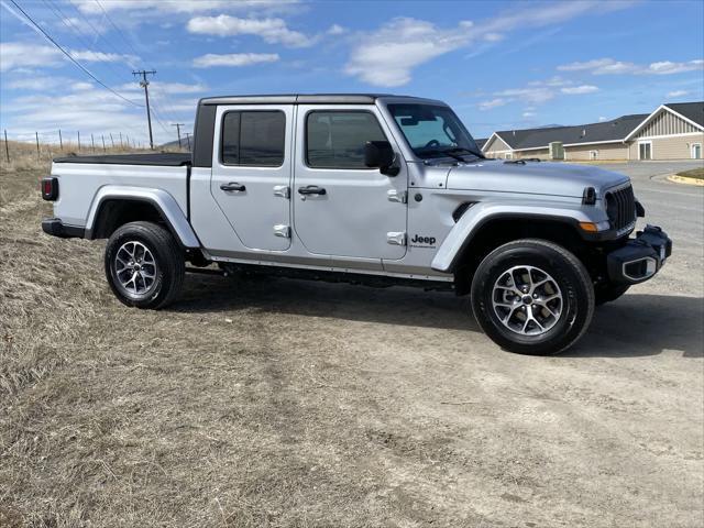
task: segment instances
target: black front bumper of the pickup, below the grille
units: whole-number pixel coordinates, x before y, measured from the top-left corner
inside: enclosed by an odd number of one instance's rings
[[[638,284],[652,278],[672,254],[672,241],[662,229],[646,226],[626,245],[606,255],[608,278],[614,284]]]

